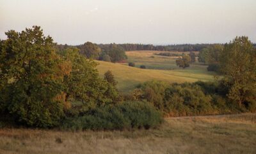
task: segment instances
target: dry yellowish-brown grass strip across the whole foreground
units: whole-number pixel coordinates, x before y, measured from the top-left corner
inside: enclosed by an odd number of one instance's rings
[[[256,114],[168,118],[154,130],[0,129],[0,153],[255,153]]]

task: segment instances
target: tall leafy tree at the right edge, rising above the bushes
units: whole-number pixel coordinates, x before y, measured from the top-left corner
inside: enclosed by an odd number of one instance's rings
[[[237,37],[220,54],[221,71],[230,86],[228,97],[241,107],[256,99],[256,50],[247,37]]]

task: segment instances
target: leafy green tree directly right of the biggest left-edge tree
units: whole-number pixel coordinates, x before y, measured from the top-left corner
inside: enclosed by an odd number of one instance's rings
[[[72,64],[72,71],[63,80],[67,102],[82,102],[81,111],[86,111],[115,101],[118,92],[108,81],[100,78],[95,69],[96,62],[79,54],[77,48],[67,48],[59,53]]]

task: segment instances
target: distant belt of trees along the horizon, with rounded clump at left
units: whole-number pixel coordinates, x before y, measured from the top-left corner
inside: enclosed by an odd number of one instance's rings
[[[210,67],[218,67],[216,65],[216,50],[220,49],[221,44],[184,44],[184,45],[143,45],[143,44],[95,44],[86,42],[83,45],[70,46],[70,45],[56,45],[58,50],[65,50],[68,47],[76,47],[79,49],[79,53],[84,55],[88,59],[102,60],[106,62],[123,62],[127,59],[125,51],[132,50],[157,50],[157,51],[178,51],[178,52],[191,52],[191,62],[195,62],[195,51],[200,51],[198,55],[198,61],[204,62],[205,64],[211,65]],[[256,44],[253,44],[256,47]],[[217,48],[217,49],[216,49]],[[214,52],[214,53],[211,53]],[[212,55],[207,55],[211,53]],[[156,53],[157,55],[163,56],[180,56],[179,53]],[[191,55],[194,54],[194,55]],[[211,57],[214,56],[214,57]],[[212,60],[215,59],[215,62]]]

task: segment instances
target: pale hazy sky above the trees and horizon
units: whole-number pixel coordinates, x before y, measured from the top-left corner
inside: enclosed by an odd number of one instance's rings
[[[68,45],[256,42],[256,0],[0,0],[0,39],[32,25]]]

